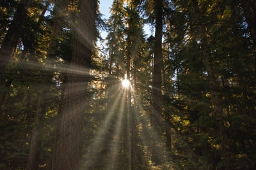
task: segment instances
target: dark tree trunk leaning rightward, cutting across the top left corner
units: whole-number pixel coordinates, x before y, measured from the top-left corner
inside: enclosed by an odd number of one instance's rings
[[[27,15],[28,6],[30,0],[21,0],[20,4],[15,12],[15,15],[12,20],[3,43],[0,49],[0,82],[3,81],[3,74],[8,65],[10,58],[12,57],[13,50],[17,47],[19,43],[20,31],[24,28],[24,20]]]

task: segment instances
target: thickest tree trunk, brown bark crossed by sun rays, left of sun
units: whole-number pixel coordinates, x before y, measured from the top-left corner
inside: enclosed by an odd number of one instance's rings
[[[76,30],[76,41],[72,54],[72,67],[80,66],[76,71],[68,73],[67,94],[63,101],[60,118],[60,134],[52,159],[54,170],[79,169],[81,157],[83,118],[85,111],[86,88],[95,41],[95,20],[97,1],[84,0],[81,2],[81,13]]]

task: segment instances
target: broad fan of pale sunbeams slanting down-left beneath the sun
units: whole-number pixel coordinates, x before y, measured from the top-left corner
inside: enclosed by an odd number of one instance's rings
[[[106,118],[104,122],[97,127],[97,132],[92,138],[92,142],[88,146],[90,152],[84,155],[84,159],[88,162],[84,166],[99,168],[99,161],[104,163],[104,167],[117,167],[120,166],[120,148],[125,146],[125,134],[128,129],[125,126],[127,124],[127,115],[125,115],[125,97],[127,91],[120,93],[118,91],[113,94],[115,99],[109,103],[109,108],[106,110]],[[127,139],[126,139],[127,141]],[[123,155],[124,156],[124,155]]]

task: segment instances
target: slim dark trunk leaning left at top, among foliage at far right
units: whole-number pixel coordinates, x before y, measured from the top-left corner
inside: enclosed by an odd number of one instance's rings
[[[203,60],[205,69],[207,71],[207,78],[209,80],[209,88],[211,90],[211,101],[212,101],[212,108],[214,112],[214,116],[216,118],[216,122],[218,124],[218,138],[220,139],[221,145],[221,158],[223,159],[225,169],[231,170],[232,167],[232,155],[230,153],[230,144],[226,134],[225,129],[225,120],[224,120],[224,113],[223,108],[221,107],[221,97],[219,96],[220,93],[220,82],[216,78],[214,74],[214,69],[212,67],[212,59],[211,59],[211,52],[209,49],[209,45],[207,43],[207,34],[204,25],[202,24],[202,18],[200,14],[200,9],[198,8],[197,3],[193,3],[193,7],[195,8],[195,19],[196,24],[198,26],[198,36],[200,38],[200,43],[202,45],[202,52],[203,52]]]

